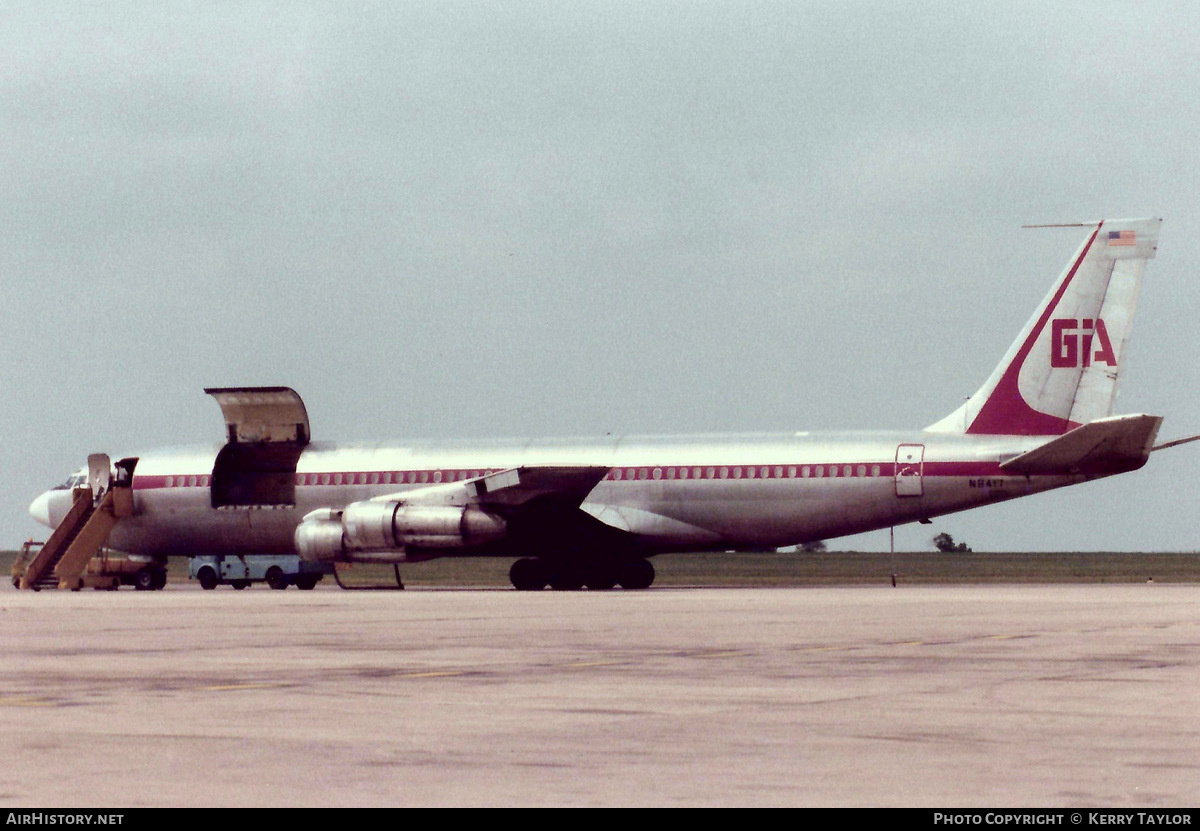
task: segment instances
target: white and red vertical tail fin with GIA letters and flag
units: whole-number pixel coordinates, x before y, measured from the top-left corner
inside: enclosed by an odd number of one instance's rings
[[[1086,223],[1092,232],[984,385],[926,430],[1057,436],[1110,416],[1160,223]]]

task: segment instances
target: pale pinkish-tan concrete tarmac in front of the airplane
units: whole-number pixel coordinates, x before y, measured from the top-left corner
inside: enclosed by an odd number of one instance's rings
[[[5,807],[1200,803],[1200,588],[0,594]]]

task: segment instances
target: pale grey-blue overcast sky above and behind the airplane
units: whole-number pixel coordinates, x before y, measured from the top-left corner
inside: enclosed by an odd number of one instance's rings
[[[1165,217],[1118,409],[1200,432],[1200,6],[1045,5],[0,2],[0,548],[220,441],[206,385],[341,441],[922,428],[1084,237],[1028,222]],[[1195,550],[1198,454],[898,545]]]

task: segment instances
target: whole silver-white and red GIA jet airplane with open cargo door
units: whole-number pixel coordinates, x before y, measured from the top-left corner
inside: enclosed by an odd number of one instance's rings
[[[311,441],[290,388],[210,388],[224,441],[118,461],[132,512],[109,545],[158,560],[504,556],[522,591],[644,588],[658,554],[773,550],[1135,471],[1162,418],[1112,411],[1160,222],[1078,223],[1086,239],[1000,364],[922,430],[348,447]],[[30,514],[56,526],[88,474]]]

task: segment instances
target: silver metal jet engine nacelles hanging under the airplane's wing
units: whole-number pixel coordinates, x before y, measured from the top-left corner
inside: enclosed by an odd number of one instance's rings
[[[506,532],[504,520],[474,506],[352,502],[304,518],[295,546],[310,562],[404,562],[406,549],[451,549],[490,543]],[[422,557],[425,558],[425,557]]]

